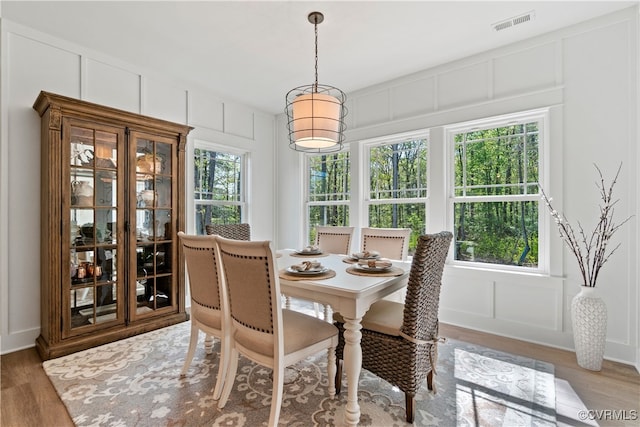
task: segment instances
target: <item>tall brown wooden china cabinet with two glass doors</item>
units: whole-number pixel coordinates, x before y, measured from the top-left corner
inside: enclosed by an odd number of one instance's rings
[[[41,92],[43,359],[183,322],[189,126]]]

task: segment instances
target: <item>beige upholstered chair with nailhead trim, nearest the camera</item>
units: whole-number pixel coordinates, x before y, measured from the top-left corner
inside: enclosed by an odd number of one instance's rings
[[[278,270],[269,241],[218,238],[231,315],[231,358],[218,402],[222,409],[233,388],[239,354],[273,369],[269,426],[280,417],[285,367],[327,351],[329,396],[335,396],[338,329],[331,323],[282,308]]]

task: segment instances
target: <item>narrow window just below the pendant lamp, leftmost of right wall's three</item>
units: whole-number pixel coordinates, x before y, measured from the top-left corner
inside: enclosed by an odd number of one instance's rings
[[[307,156],[309,243],[318,225],[348,226],[351,171],[349,152]]]

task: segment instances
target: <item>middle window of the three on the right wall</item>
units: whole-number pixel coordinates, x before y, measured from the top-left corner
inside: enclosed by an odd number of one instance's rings
[[[369,227],[411,228],[409,253],[425,230],[427,139],[422,135],[365,145]]]

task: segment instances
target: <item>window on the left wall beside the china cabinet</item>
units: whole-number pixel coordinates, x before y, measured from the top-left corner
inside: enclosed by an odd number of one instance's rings
[[[196,147],[194,200],[196,233],[206,224],[239,224],[245,215],[246,154]]]

